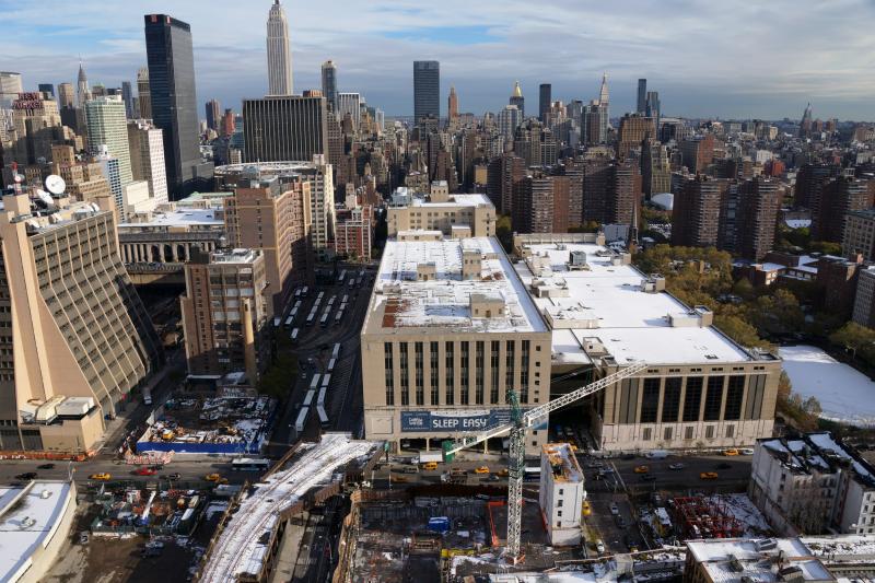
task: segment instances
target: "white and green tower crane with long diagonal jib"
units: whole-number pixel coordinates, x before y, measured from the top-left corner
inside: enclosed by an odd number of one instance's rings
[[[520,560],[520,527],[523,512],[523,473],[525,465],[526,430],[537,427],[550,412],[571,405],[583,397],[592,395],[603,388],[640,373],[646,368],[644,363],[634,363],[605,376],[584,387],[567,393],[549,403],[539,405],[526,411],[520,407],[520,400],[514,390],[508,390],[511,403],[511,420],[508,423],[490,428],[485,433],[447,442],[444,446],[444,458],[467,447],[483,443],[485,441],[510,433],[510,462],[508,464],[508,547],[505,555],[514,563]]]

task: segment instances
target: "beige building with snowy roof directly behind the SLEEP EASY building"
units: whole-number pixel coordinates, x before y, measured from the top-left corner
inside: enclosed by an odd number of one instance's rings
[[[446,236],[493,236],[495,207],[485,195],[433,189],[427,196],[401,186],[392,196],[386,222],[390,237],[412,230],[441,231]]]

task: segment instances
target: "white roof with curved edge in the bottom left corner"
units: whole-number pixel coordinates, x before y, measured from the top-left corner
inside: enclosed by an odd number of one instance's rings
[[[73,503],[70,483],[32,481],[0,488],[0,581],[15,581],[38,546],[47,546]]]

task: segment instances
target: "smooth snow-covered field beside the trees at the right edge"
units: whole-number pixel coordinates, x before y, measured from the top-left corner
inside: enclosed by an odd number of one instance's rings
[[[812,346],[779,349],[793,392],[816,397],[820,417],[860,427],[875,427],[875,383],[861,372],[838,362]]]

